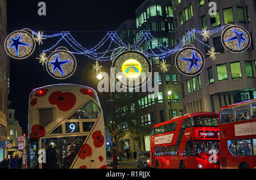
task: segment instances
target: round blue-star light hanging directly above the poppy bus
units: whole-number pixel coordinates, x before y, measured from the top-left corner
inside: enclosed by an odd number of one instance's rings
[[[76,70],[76,58],[69,51],[57,50],[49,55],[46,69],[54,78],[68,78]]]

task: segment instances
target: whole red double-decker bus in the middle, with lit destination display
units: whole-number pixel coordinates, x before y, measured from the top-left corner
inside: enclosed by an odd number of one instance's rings
[[[196,112],[154,125],[151,168],[220,168],[218,114]]]

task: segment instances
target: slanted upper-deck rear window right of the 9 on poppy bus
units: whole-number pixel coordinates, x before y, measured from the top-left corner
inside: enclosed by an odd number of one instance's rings
[[[101,110],[93,101],[84,104],[77,112],[68,119],[97,119]]]

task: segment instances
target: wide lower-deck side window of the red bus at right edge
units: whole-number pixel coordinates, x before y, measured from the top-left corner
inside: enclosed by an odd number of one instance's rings
[[[253,149],[251,148],[251,140],[237,140],[237,155],[252,156]]]

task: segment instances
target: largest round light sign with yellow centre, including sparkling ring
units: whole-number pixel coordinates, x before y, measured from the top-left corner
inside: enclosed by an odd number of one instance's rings
[[[112,76],[123,87],[141,87],[151,77],[152,68],[148,58],[139,51],[129,50],[121,52],[115,57]]]

